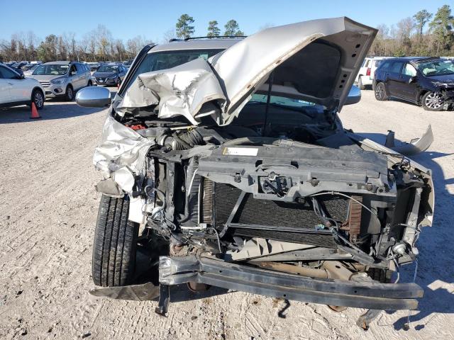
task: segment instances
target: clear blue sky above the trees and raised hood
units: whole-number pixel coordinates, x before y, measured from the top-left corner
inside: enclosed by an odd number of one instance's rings
[[[194,17],[195,36],[206,35],[208,22],[216,20],[223,25],[235,19],[240,30],[248,35],[262,26],[295,23],[315,18],[348,16],[355,21],[376,27],[380,23],[392,25],[402,18],[413,16],[421,9],[435,13],[443,4],[453,1],[438,0],[223,0],[223,1],[145,1],[145,0],[78,0],[78,1],[1,1],[0,40],[11,33],[33,30],[38,38],[75,32],[77,38],[96,28],[106,26],[114,38],[127,40],[143,35],[155,41],[175,28],[182,13]],[[454,11],[454,8],[453,8]]]

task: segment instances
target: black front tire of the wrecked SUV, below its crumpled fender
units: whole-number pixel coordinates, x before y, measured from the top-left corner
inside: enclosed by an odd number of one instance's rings
[[[128,212],[128,196],[101,197],[93,244],[95,285],[116,287],[133,279],[139,225],[128,220]]]

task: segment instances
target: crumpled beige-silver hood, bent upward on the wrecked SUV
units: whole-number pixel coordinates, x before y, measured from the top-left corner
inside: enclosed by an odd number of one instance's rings
[[[158,105],[160,118],[184,115],[196,125],[211,115],[226,125],[268,79],[272,94],[340,110],[376,34],[345,17],[268,28],[207,61],[140,74],[116,111]]]

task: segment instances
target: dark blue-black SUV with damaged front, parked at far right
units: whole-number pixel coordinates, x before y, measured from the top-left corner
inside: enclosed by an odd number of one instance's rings
[[[441,111],[453,104],[454,62],[438,57],[405,57],[385,60],[375,71],[377,101],[399,98]]]

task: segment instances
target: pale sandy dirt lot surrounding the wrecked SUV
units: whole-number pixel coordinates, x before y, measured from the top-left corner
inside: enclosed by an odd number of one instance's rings
[[[100,175],[92,153],[105,111],[47,102],[43,120],[28,108],[0,110],[0,339],[453,339],[454,112],[431,113],[372,91],[346,106],[346,128],[382,137],[418,137],[431,123],[435,142],[415,157],[433,169],[436,218],[419,239],[416,282],[420,309],[383,312],[367,332],[355,325],[362,310],[335,313],[324,305],[212,289],[172,291],[169,317],[157,302],[92,297],[92,237]],[[403,280],[413,279],[414,266]],[[176,301],[176,302],[175,302]]]

